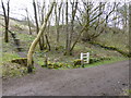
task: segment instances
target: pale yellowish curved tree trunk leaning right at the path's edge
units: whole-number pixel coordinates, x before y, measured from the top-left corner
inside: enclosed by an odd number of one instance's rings
[[[32,42],[32,45],[29,47],[29,50],[28,50],[28,53],[27,53],[27,72],[28,73],[33,72],[33,53],[35,51],[36,45],[38,44],[38,41],[40,39],[40,36],[43,35],[43,33],[46,29],[46,25],[47,25],[49,16],[50,16],[50,14],[52,12],[53,5],[55,5],[55,2],[51,3],[50,10],[49,10],[49,12],[47,13],[47,15],[45,17],[45,22],[43,23],[43,25],[41,25],[41,27],[40,27],[40,29],[38,32],[37,37],[34,39],[34,41]]]

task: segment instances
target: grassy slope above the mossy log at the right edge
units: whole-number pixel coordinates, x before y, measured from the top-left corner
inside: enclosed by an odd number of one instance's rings
[[[119,48],[120,50],[123,51],[129,51],[129,33],[107,33],[100,35],[98,38],[98,41],[100,44],[107,45],[107,46],[112,46],[116,48]]]

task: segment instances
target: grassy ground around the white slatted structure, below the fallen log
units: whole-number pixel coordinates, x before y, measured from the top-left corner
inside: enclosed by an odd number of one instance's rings
[[[116,52],[112,50],[105,50],[103,48],[95,47],[90,44],[78,44],[76,47],[74,48],[73,56],[63,56],[63,52],[55,51],[55,50],[51,50],[48,52],[36,51],[35,62],[38,63],[39,65],[44,65],[45,54],[46,54],[48,57],[48,60],[51,62],[55,62],[55,60],[58,59],[57,62],[69,65],[69,68],[59,68],[59,70],[74,69],[73,61],[75,59],[80,59],[81,52],[90,52],[91,58],[97,58],[97,59],[98,58],[110,58],[110,60],[104,60],[104,61],[96,62],[93,64],[87,64],[87,65],[85,65],[85,68],[108,64],[108,63],[115,63],[115,62],[119,62],[122,60],[128,60],[128,58],[124,58],[119,52]]]

